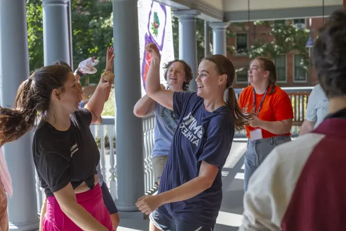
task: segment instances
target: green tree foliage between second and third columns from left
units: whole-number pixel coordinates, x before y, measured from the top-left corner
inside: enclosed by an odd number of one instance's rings
[[[107,46],[113,44],[112,1],[73,0],[71,5],[74,68],[87,57],[99,59],[94,75],[87,75],[90,83],[98,83],[106,67]],[[116,52],[116,50],[115,50]],[[82,80],[82,84],[84,80]]]

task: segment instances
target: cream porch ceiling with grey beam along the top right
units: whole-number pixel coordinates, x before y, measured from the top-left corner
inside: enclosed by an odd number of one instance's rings
[[[195,9],[210,22],[248,21],[248,0],[155,0],[177,10]],[[324,16],[343,8],[343,0],[324,0]],[[250,20],[323,16],[322,0],[250,0]]]

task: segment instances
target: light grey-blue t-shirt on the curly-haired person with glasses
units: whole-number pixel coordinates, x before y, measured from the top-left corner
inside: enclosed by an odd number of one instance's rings
[[[173,136],[176,130],[176,120],[172,110],[156,103],[155,114],[155,142],[151,157],[167,156],[170,152]]]

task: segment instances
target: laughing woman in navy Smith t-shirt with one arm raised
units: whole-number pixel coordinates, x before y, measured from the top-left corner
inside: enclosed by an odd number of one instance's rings
[[[232,88],[234,66],[223,55],[205,57],[198,68],[198,91],[172,92],[160,88],[158,48],[149,44],[146,49],[152,56],[146,92],[173,110],[178,127],[158,195],[144,195],[136,205],[150,214],[150,231],[213,230],[222,200],[221,169],[234,131],[244,129],[250,118],[238,107]]]

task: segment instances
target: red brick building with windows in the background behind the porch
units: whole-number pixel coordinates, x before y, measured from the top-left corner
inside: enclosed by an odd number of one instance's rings
[[[326,18],[324,19],[324,21]],[[283,23],[285,20],[275,20],[269,23]],[[292,19],[288,20],[294,24],[296,28],[309,29],[309,19]],[[312,38],[317,36],[318,29],[323,25],[323,18],[312,18]],[[264,39],[265,42],[271,43],[273,37],[269,35],[270,28],[262,25],[254,25],[250,22],[250,33],[244,32],[244,28],[249,28],[249,23],[245,22],[244,26],[231,25],[230,31],[235,33],[235,37],[229,38],[227,45],[235,47],[235,53],[232,55],[228,53],[228,57],[232,60],[236,69],[236,83],[235,88],[244,88],[248,86],[248,67],[250,59],[246,54],[246,50],[252,46],[254,40]],[[245,51],[245,52],[244,52]],[[286,54],[279,55],[275,58],[276,72],[278,77],[277,85],[280,87],[305,87],[314,86],[317,84],[317,79],[314,74],[313,68],[311,69],[311,77],[308,71],[305,71],[301,65],[302,56],[295,50]]]

